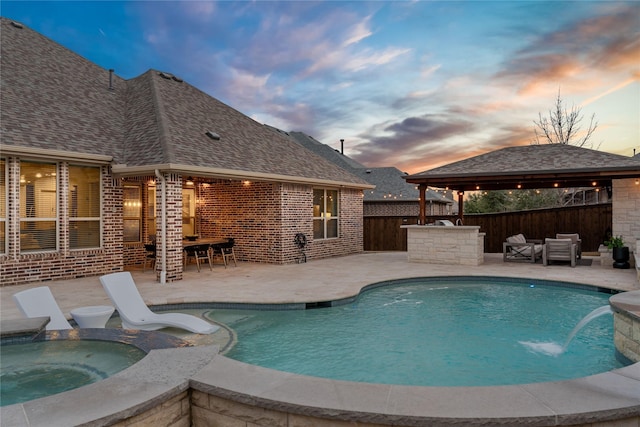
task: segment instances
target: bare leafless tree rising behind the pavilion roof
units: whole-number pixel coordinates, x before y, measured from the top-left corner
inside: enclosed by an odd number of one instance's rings
[[[589,138],[593,135],[598,122],[596,115],[591,116],[589,128],[586,132],[580,132],[583,116],[581,109],[575,105],[571,110],[567,110],[562,105],[560,90],[558,90],[558,98],[556,99],[555,109],[549,110],[549,117],[543,117],[542,113],[538,113],[538,120],[534,120],[535,139],[533,144],[571,144],[578,147],[591,148],[592,143]]]

